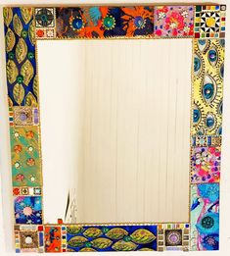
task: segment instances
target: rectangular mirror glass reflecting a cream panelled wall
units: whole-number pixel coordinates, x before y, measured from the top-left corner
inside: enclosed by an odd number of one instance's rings
[[[188,221],[191,52],[38,41],[45,222]]]

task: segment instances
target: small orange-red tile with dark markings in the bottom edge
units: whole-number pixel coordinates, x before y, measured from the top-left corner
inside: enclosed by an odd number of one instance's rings
[[[45,252],[62,251],[61,227],[45,227]]]

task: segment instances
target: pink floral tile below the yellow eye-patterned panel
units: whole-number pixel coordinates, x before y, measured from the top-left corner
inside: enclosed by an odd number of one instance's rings
[[[220,178],[220,148],[193,147],[191,153],[191,182],[218,182]]]

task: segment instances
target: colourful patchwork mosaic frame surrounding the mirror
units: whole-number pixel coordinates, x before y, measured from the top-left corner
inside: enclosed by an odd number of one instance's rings
[[[6,7],[6,71],[16,252],[217,250],[225,5]],[[193,41],[188,223],[43,221],[37,40]]]

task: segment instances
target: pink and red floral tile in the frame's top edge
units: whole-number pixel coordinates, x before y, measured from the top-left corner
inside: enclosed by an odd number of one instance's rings
[[[193,37],[193,6],[156,6],[155,35],[159,37]]]

